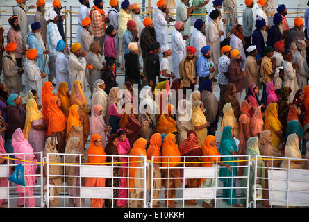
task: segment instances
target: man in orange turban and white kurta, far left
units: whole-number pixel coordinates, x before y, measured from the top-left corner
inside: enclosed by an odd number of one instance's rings
[[[42,78],[46,76],[43,71],[40,71],[40,68],[37,67],[37,51],[35,49],[29,49],[26,52],[26,61],[24,65],[24,76],[26,78],[25,91],[29,92],[31,89],[37,91],[37,95],[42,96]]]

